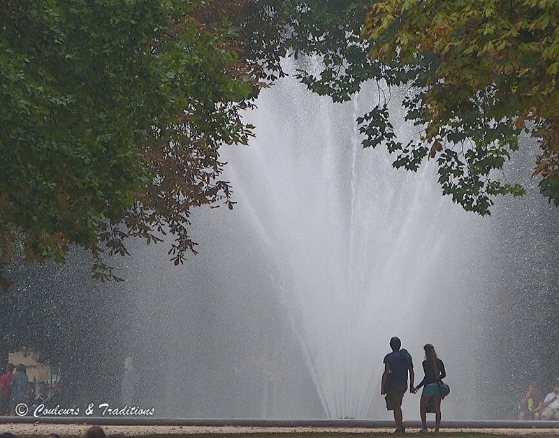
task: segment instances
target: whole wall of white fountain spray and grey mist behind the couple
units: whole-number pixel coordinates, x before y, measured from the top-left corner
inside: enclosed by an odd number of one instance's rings
[[[379,383],[393,335],[416,382],[435,345],[444,418],[515,418],[530,380],[551,390],[555,207],[521,177],[525,198],[463,212],[432,166],[393,170],[385,150],[361,148],[354,119],[369,98],[334,106],[292,80],[264,91],[247,115],[256,139],[223,150],[238,203],[195,212],[200,254],[182,266],[165,244],[131,242],[114,260],[124,283],[93,282],[79,251],[63,267],[8,269],[31,316],[21,330],[60,351],[72,402],[121,402],[131,356],[135,402],[155,416],[389,419]],[[530,175],[534,154],[507,177]],[[34,319],[56,321],[52,333]],[[406,395],[405,418],[418,411]]]

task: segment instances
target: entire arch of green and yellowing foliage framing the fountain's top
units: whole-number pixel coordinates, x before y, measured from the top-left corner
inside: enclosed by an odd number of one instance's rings
[[[393,166],[437,162],[443,194],[489,214],[524,193],[502,172],[518,136],[537,138],[535,175],[559,205],[557,2],[22,0],[0,5],[0,263],[63,261],[77,244],[103,263],[130,236],[194,251],[191,207],[232,207],[219,147],[247,144],[240,110],[300,63],[313,92],[378,100],[363,146]],[[419,136],[398,138],[390,89]],[[388,92],[386,92],[388,90]],[[1,268],[1,265],[0,265]]]

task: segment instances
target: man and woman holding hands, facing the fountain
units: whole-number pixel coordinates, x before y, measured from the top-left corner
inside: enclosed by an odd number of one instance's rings
[[[402,424],[402,398],[407,390],[407,375],[409,373],[409,392],[415,394],[421,386],[421,402],[419,404],[419,414],[421,415],[422,428],[420,432],[427,432],[427,403],[433,400],[433,410],[435,411],[435,432],[439,432],[441,424],[441,390],[440,381],[447,376],[444,370],[444,363],[437,358],[435,348],[431,344],[423,347],[425,350],[425,360],[423,360],[423,371],[425,377],[418,386],[414,386],[414,364],[412,356],[407,350],[400,349],[402,342],[398,337],[390,340],[392,353],[384,356],[384,373],[382,374],[382,385],[380,393],[386,394],[386,409],[394,411],[394,422],[396,424],[395,433],[404,433]]]

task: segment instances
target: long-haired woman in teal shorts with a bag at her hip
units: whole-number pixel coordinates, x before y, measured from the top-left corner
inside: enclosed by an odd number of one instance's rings
[[[423,386],[423,392],[421,393],[421,402],[419,404],[419,414],[421,415],[422,428],[420,432],[427,432],[427,402],[429,399],[433,400],[433,409],[435,410],[435,432],[439,432],[439,427],[441,425],[441,389],[440,381],[447,376],[447,372],[444,370],[444,363],[440,358],[437,358],[437,353],[435,353],[435,347],[431,344],[426,344],[423,346],[425,350],[425,360],[423,360],[423,371],[425,372],[425,377],[415,387],[415,390],[419,390]]]

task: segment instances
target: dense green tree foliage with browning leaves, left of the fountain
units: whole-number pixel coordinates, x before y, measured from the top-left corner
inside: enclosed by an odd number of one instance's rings
[[[22,0],[0,5],[0,262],[97,258],[169,231],[194,250],[189,210],[224,200],[220,145],[246,144],[256,84],[225,17],[204,2]]]

